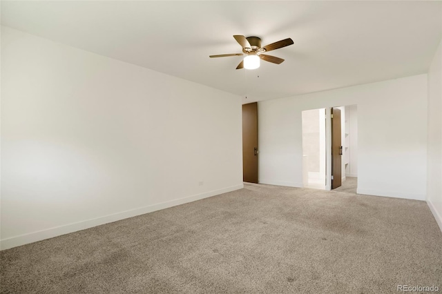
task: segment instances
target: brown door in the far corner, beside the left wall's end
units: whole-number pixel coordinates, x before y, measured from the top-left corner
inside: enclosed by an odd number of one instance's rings
[[[258,183],[258,103],[242,105],[242,180]]]

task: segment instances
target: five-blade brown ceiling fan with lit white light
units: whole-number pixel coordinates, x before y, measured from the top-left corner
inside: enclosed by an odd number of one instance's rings
[[[242,35],[234,35],[233,38],[242,46],[242,53],[233,54],[222,54],[222,55],[210,55],[210,58],[215,57],[229,57],[229,56],[242,56],[247,55],[236,67],[237,70],[240,68],[246,68],[248,70],[254,70],[260,67],[260,59],[264,61],[269,61],[271,63],[280,64],[284,59],[279,57],[274,57],[267,54],[262,54],[271,50],[276,50],[285,46],[293,44],[293,40],[290,38],[271,43],[267,46],[261,47],[261,39],[258,37],[244,37]]]

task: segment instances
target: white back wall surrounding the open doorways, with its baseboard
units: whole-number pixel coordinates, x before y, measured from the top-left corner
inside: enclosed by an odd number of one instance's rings
[[[302,110],[358,106],[358,193],[425,199],[427,75],[259,103],[259,181],[302,186]]]

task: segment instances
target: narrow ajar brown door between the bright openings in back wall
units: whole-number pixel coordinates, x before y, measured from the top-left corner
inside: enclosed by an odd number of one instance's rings
[[[342,184],[343,146],[340,139],[340,109],[332,108],[332,189]]]

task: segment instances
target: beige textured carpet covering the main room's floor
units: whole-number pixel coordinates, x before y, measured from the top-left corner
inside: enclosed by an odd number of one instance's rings
[[[1,293],[397,293],[442,287],[425,202],[244,189],[0,252]]]

